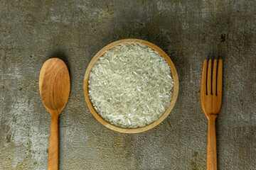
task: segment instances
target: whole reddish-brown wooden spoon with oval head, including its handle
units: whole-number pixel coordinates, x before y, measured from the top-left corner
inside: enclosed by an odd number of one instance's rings
[[[39,89],[43,105],[50,112],[48,169],[58,169],[58,116],[70,94],[70,75],[63,60],[51,58],[43,64]]]

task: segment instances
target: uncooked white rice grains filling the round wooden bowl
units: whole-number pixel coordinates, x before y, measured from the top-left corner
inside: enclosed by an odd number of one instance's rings
[[[105,52],[92,67],[88,82],[97,113],[122,128],[157,120],[169,106],[174,86],[164,57],[137,43]]]

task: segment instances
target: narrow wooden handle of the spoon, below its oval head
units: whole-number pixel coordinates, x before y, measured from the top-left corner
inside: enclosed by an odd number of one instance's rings
[[[48,153],[48,170],[58,169],[58,116],[50,116],[50,139]]]

